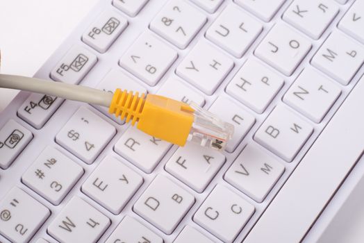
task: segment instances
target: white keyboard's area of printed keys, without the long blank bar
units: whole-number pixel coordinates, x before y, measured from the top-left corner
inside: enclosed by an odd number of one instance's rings
[[[100,1],[35,76],[195,101],[233,139],[179,148],[21,92],[0,117],[0,242],[241,242],[363,73],[363,9]]]

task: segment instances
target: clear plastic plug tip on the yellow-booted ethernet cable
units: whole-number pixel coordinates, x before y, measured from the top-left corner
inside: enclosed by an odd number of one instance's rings
[[[200,108],[196,103],[190,103],[195,110],[195,119],[188,135],[188,141],[222,151],[231,140],[234,126]]]

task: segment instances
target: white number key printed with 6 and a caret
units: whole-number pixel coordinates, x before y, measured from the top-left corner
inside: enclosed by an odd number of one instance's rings
[[[176,58],[174,49],[151,33],[144,33],[126,51],[119,64],[145,83],[154,86]]]

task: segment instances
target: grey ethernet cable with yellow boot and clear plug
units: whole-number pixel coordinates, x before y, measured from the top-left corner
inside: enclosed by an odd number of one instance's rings
[[[191,141],[221,151],[231,139],[233,125],[195,103],[186,104],[156,94],[127,90],[104,92],[81,85],[0,74],[0,87],[26,90],[108,107],[108,112],[131,122],[153,137],[184,146]]]

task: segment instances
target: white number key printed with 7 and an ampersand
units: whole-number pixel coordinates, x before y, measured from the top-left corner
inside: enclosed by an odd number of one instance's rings
[[[204,26],[206,16],[182,0],[169,1],[149,25],[180,49],[185,49]]]

